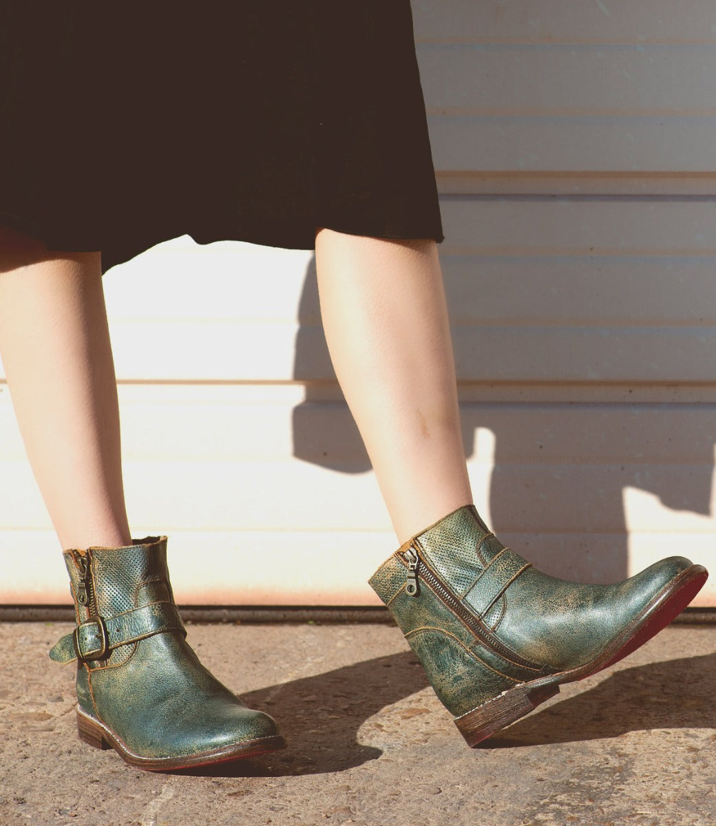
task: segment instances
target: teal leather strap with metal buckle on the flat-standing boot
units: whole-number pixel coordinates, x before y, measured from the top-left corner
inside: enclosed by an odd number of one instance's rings
[[[121,645],[137,643],[164,631],[187,634],[173,602],[153,602],[112,617],[92,616],[59,640],[50,651],[50,659],[55,662],[102,660]]]

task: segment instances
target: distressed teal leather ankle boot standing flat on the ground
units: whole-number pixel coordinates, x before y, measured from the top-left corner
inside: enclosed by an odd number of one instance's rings
[[[189,647],[167,569],[167,538],[64,553],[78,626],[50,652],[77,661],[78,731],[131,766],[167,771],[284,748]]]

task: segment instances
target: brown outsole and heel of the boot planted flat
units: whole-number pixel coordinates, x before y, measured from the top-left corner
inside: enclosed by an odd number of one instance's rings
[[[130,766],[145,771],[175,771],[177,769],[211,766],[214,763],[225,763],[235,760],[245,760],[249,757],[259,757],[269,752],[277,752],[286,748],[286,741],[280,735],[262,737],[254,740],[244,740],[225,748],[214,749],[210,752],[198,752],[181,757],[141,757],[131,752],[122,743],[121,739],[111,732],[100,720],[77,710],[77,729],[80,740],[93,748],[113,748],[119,756]]]

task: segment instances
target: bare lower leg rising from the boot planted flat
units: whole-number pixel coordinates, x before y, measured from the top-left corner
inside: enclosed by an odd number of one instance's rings
[[[0,357],[62,547],[131,544],[98,253],[0,229]]]

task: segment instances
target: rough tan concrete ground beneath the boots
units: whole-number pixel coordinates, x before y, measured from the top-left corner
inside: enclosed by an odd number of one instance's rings
[[[69,624],[0,624],[2,826],[716,826],[716,626],[666,629],[469,749],[385,625],[190,625],[272,757],[153,774],[75,732]]]

